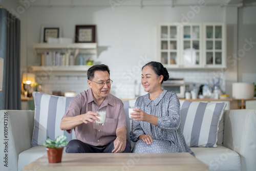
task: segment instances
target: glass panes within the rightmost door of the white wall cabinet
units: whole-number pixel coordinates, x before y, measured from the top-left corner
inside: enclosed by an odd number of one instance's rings
[[[222,66],[223,63],[223,25],[205,24],[205,65]]]

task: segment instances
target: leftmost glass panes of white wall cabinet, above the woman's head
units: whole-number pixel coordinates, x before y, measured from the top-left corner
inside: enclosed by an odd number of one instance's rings
[[[175,25],[160,26],[160,57],[163,65],[178,64],[178,29]]]

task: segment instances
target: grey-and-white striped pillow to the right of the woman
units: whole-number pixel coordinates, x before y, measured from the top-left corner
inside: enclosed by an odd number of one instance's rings
[[[180,100],[181,129],[189,147],[217,147],[226,103]]]

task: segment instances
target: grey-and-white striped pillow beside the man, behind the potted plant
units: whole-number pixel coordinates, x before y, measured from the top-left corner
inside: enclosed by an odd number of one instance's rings
[[[31,146],[42,145],[47,137],[55,139],[57,136],[67,135],[67,141],[75,139],[75,133],[68,134],[61,131],[60,121],[73,97],[53,96],[33,92],[35,103],[34,131]]]

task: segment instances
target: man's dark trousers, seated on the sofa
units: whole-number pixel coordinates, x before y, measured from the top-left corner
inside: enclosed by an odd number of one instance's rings
[[[66,153],[112,153],[114,149],[114,141],[103,146],[94,146],[84,143],[80,140],[71,140],[66,146]],[[126,140],[126,146],[122,153],[130,153],[131,144]]]

